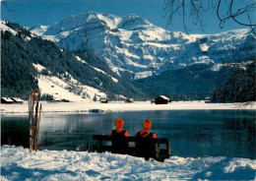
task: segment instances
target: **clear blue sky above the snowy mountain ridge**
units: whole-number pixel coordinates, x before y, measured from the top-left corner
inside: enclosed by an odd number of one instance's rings
[[[246,0],[254,1],[254,0]],[[110,13],[117,16],[135,14],[149,20],[156,26],[166,28],[164,16],[164,0],[8,0],[8,11],[1,6],[1,19],[18,23],[25,27],[36,25],[51,25],[71,15],[86,12]],[[255,14],[253,16],[255,18]],[[220,29],[220,21],[212,8],[204,16],[205,31],[198,30],[190,20],[187,20],[190,33],[215,33],[224,30],[243,29],[235,23],[226,22]],[[167,30],[184,31],[182,17],[175,16],[173,24]]]

